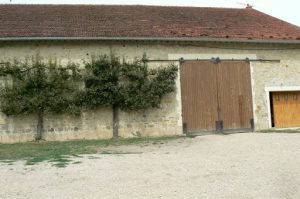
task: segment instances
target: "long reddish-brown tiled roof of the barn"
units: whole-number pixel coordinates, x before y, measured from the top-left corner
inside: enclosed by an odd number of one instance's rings
[[[300,40],[300,27],[252,8],[0,5],[0,38],[154,37]]]

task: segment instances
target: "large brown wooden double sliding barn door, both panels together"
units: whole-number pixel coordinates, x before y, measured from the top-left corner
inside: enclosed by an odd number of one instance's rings
[[[252,128],[247,62],[186,61],[180,72],[182,118],[188,132]]]

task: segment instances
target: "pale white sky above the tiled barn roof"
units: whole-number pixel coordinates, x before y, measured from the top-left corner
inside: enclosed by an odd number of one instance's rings
[[[0,3],[22,4],[139,4],[172,5],[198,7],[235,7],[243,8],[245,4],[254,9],[300,26],[300,0],[0,0]],[[243,5],[244,4],[244,5]]]

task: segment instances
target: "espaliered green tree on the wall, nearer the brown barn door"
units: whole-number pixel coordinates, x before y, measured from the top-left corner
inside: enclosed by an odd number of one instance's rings
[[[178,71],[174,65],[149,69],[145,56],[127,62],[115,55],[93,57],[85,69],[83,104],[112,108],[114,138],[119,135],[119,110],[158,108],[162,97],[174,91]]]

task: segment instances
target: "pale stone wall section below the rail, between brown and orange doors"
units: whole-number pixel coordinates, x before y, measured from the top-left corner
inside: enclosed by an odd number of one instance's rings
[[[251,63],[255,129],[268,129],[268,93],[266,88],[300,87],[300,60]],[[300,113],[299,113],[300,114]]]

